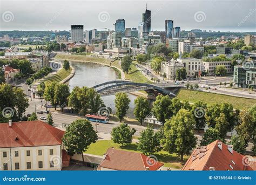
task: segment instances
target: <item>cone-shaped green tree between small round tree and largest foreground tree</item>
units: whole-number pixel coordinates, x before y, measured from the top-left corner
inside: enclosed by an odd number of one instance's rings
[[[154,133],[153,127],[147,125],[147,128],[140,133],[137,149],[143,154],[152,155],[162,149],[160,140],[160,133]]]

